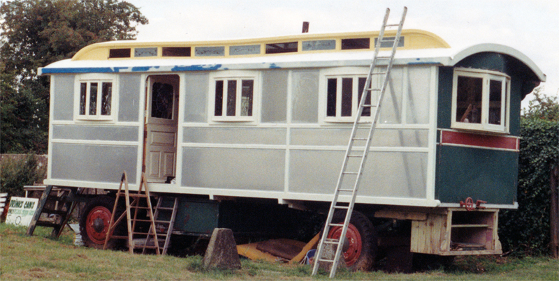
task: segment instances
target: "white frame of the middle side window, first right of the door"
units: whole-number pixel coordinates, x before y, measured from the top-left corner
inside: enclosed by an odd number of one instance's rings
[[[252,89],[252,116],[241,116],[241,105],[242,105],[242,80],[252,79],[253,89]],[[215,115],[215,91],[216,82],[219,80],[224,81],[224,92],[222,99],[222,115]],[[235,116],[227,116],[227,81],[236,80],[237,81],[237,91],[236,91],[236,101],[235,101]],[[210,123],[222,123],[222,122],[245,122],[245,123],[256,123],[259,121],[260,116],[260,97],[261,97],[261,73],[259,71],[250,70],[226,70],[218,71],[215,73],[210,73],[210,86],[209,95],[210,98],[208,104],[208,116],[210,117]]]

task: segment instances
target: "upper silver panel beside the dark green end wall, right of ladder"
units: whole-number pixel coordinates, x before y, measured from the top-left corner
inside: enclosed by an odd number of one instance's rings
[[[414,66],[408,68],[407,74],[407,123],[427,124],[429,123],[430,105],[430,66]]]

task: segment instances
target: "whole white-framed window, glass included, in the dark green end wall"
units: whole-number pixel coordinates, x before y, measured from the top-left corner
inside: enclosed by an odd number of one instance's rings
[[[452,128],[508,132],[510,77],[503,73],[454,70]]]

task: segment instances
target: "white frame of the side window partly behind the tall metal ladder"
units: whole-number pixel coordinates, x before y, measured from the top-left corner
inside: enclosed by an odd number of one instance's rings
[[[341,67],[341,68],[327,68],[320,71],[319,77],[319,122],[328,124],[328,123],[350,123],[354,122],[356,118],[356,113],[358,111],[358,78],[367,78],[369,73],[368,67]],[[380,75],[373,75],[371,82],[372,88],[375,88],[379,82],[378,79]],[[337,82],[337,91],[336,91],[336,114],[335,116],[327,116],[328,114],[328,79],[336,78],[338,79]],[[342,78],[353,78],[353,86],[352,91],[353,95],[351,97],[351,116],[341,116],[342,115]],[[375,104],[377,100],[377,93],[372,91],[371,93],[371,101]],[[372,109],[371,109],[372,114]],[[361,120],[363,121],[370,121],[372,120],[372,116],[361,116]]]

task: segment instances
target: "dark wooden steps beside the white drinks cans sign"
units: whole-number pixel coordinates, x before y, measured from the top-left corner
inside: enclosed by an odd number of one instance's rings
[[[31,218],[29,228],[27,228],[27,235],[33,235],[37,226],[52,227],[52,238],[58,238],[75,208],[76,204],[74,199],[78,192],[79,189],[75,188],[55,190],[52,185],[45,186],[35,214],[33,218]],[[43,213],[46,215],[55,215],[55,217],[50,220],[44,220],[41,219]]]

